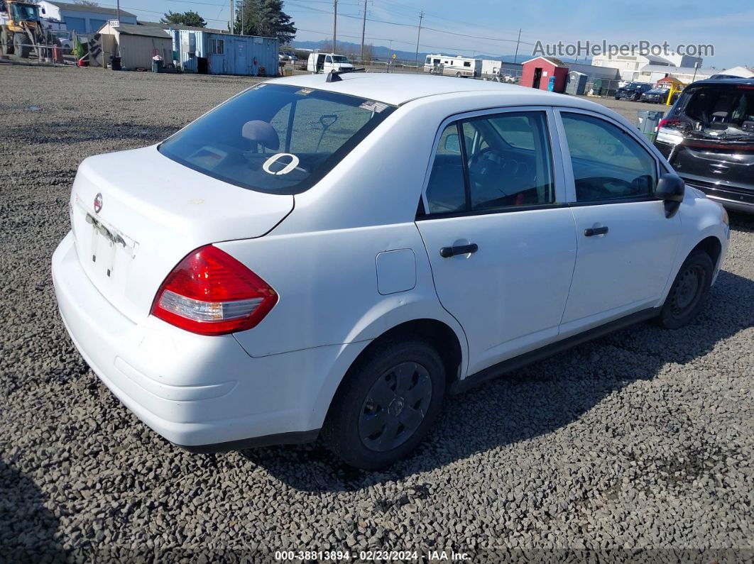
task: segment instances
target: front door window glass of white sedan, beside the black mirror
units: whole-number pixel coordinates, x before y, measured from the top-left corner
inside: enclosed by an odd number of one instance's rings
[[[578,202],[650,197],[657,164],[636,139],[599,117],[562,112]]]

